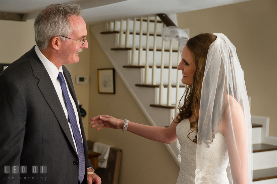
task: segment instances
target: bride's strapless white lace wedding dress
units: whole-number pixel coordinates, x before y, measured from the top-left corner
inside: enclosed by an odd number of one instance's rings
[[[196,169],[196,144],[190,139],[195,138],[195,133],[187,135],[190,132],[189,119],[183,119],[176,127],[176,133],[179,140],[179,150],[181,151],[181,166],[177,184],[194,184],[195,169]],[[178,145],[178,143],[177,143]],[[205,146],[202,144],[201,146]],[[215,139],[210,148],[202,149],[203,163],[206,168],[202,172],[197,172],[197,177],[204,175],[200,182],[201,184],[229,184],[226,168],[228,166],[228,152],[225,144],[225,137],[220,134],[215,134]],[[217,149],[215,149],[217,147]],[[220,147],[221,151],[218,151]]]

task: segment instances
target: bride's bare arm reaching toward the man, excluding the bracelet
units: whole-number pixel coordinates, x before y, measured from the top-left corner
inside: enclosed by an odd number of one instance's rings
[[[96,128],[96,130],[100,130],[102,128],[122,129],[124,124],[124,120],[116,119],[109,115],[96,116],[91,118],[90,120],[91,122],[89,122],[89,124],[95,123],[91,126],[91,128],[101,125],[100,127]],[[174,121],[177,122],[176,118],[174,119]],[[129,121],[127,130],[153,141],[170,144],[177,140],[177,123],[175,123],[174,121],[167,128],[137,124]]]

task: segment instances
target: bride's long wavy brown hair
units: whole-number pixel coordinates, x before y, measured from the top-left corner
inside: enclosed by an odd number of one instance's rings
[[[191,140],[193,143],[197,143],[197,129],[199,114],[197,108],[200,104],[201,88],[204,77],[204,71],[206,66],[206,60],[208,55],[209,46],[216,40],[216,36],[211,33],[201,33],[190,38],[186,46],[190,50],[192,59],[195,63],[196,69],[193,75],[193,84],[187,85],[184,97],[184,105],[179,109],[179,113],[176,117],[177,122],[181,122],[183,119],[189,118],[194,114],[195,121],[190,123],[190,133],[196,132],[195,139]],[[183,99],[183,97],[181,99]],[[181,102],[181,100],[180,100]],[[180,103],[179,102],[179,103]],[[213,134],[216,133],[217,127],[212,127]],[[188,135],[189,135],[188,134]]]

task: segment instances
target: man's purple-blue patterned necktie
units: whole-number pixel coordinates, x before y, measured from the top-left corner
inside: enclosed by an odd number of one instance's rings
[[[73,136],[76,142],[77,150],[78,150],[78,158],[79,158],[79,181],[82,183],[84,176],[85,176],[85,153],[84,153],[84,146],[82,142],[82,137],[80,134],[80,130],[78,128],[76,115],[71,103],[71,100],[68,96],[68,91],[66,88],[65,80],[63,78],[63,74],[59,72],[58,79],[61,84],[61,90],[63,92],[63,96],[65,98],[65,105],[68,113],[69,122],[72,127]]]

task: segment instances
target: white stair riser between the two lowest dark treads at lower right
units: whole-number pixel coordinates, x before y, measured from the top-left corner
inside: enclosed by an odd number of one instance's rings
[[[253,170],[277,167],[277,150],[253,153]]]

